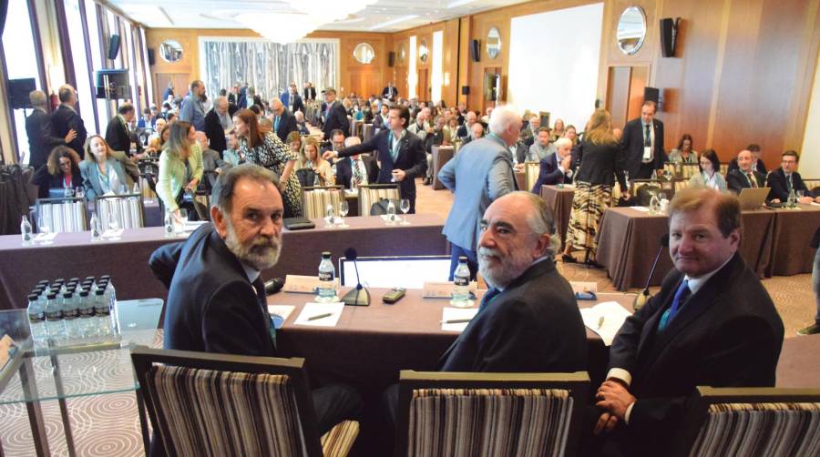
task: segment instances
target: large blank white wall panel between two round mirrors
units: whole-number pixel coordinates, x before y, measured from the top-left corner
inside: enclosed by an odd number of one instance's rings
[[[513,17],[510,103],[583,130],[598,92],[602,23],[603,3]]]

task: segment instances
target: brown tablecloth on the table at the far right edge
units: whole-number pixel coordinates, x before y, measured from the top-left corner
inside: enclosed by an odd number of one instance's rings
[[[809,244],[820,227],[820,207],[800,205],[800,209],[774,210],[771,261],[765,276],[792,276],[811,273],[815,251]]]

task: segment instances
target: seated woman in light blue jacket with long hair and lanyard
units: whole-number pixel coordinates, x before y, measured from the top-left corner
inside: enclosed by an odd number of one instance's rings
[[[86,158],[80,162],[86,198],[128,193],[139,180],[139,168],[124,152],[115,151],[99,135],[86,140]]]

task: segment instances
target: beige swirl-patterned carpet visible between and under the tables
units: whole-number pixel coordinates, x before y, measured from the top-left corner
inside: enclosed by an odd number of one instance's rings
[[[419,183],[419,212],[433,212],[446,218],[453,198],[446,190],[433,191]],[[611,291],[612,283],[602,269],[587,269],[578,264],[559,263],[559,272],[569,280],[594,281],[600,291]],[[812,322],[815,299],[810,275],[765,279],[765,288],[774,300],[784,321],[786,338]],[[656,288],[657,289],[657,288]],[[638,289],[631,290],[637,292]],[[146,341],[148,342],[148,341]],[[153,341],[157,344],[157,341]],[[67,401],[71,430],[79,456],[144,455],[139,430],[137,401],[133,392]],[[56,401],[41,403],[45,415],[48,442],[55,456],[67,456],[60,412]],[[26,407],[23,404],[0,405],[0,441],[7,456],[35,455]]]

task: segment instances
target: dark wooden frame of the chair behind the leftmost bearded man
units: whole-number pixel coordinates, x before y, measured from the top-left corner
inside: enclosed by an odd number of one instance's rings
[[[139,381],[138,392],[148,405],[149,418],[154,430],[159,430],[161,436],[169,436],[168,424],[158,423],[156,407],[150,395],[145,394],[148,383],[148,373],[154,363],[165,365],[195,368],[215,371],[235,371],[245,373],[270,373],[290,377],[290,382],[296,397],[296,407],[299,412],[299,421],[302,425],[302,436],[309,457],[322,457],[322,444],[316,422],[316,413],[313,410],[311,391],[308,388],[307,371],[304,368],[304,359],[280,359],[274,357],[253,357],[231,354],[212,354],[207,352],[193,352],[188,350],[157,350],[145,346],[136,346],[131,350],[131,361]],[[140,414],[144,412],[141,411]],[[164,441],[164,438],[161,438]]]

